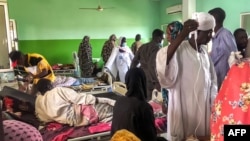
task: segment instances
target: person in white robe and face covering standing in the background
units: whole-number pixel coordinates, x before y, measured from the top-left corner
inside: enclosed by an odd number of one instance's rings
[[[130,68],[134,55],[127,46],[125,37],[120,37],[118,48],[119,51],[117,53],[115,63],[119,73],[120,81],[125,83],[125,75]]]

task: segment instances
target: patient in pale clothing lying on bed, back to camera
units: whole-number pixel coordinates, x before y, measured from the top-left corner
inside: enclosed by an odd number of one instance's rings
[[[84,126],[112,120],[115,100],[77,93],[66,87],[52,87],[48,79],[40,79],[41,94],[35,101],[35,112],[42,122],[58,122],[70,126]]]

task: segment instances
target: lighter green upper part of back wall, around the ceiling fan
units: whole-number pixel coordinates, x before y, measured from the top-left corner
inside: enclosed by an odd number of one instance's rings
[[[106,39],[110,34],[150,37],[158,27],[159,2],[152,0],[101,0],[102,12],[80,10],[97,7],[98,0],[8,0],[9,16],[16,19],[20,40]],[[152,18],[149,18],[152,17]]]

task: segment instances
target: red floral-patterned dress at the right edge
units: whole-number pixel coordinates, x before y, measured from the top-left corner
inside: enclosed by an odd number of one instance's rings
[[[250,61],[233,65],[215,99],[211,141],[223,141],[225,124],[250,124]]]

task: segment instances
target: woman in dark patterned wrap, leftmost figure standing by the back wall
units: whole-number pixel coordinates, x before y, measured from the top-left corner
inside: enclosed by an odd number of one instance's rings
[[[82,77],[90,77],[93,73],[92,46],[89,36],[84,36],[79,45],[78,57]]]

